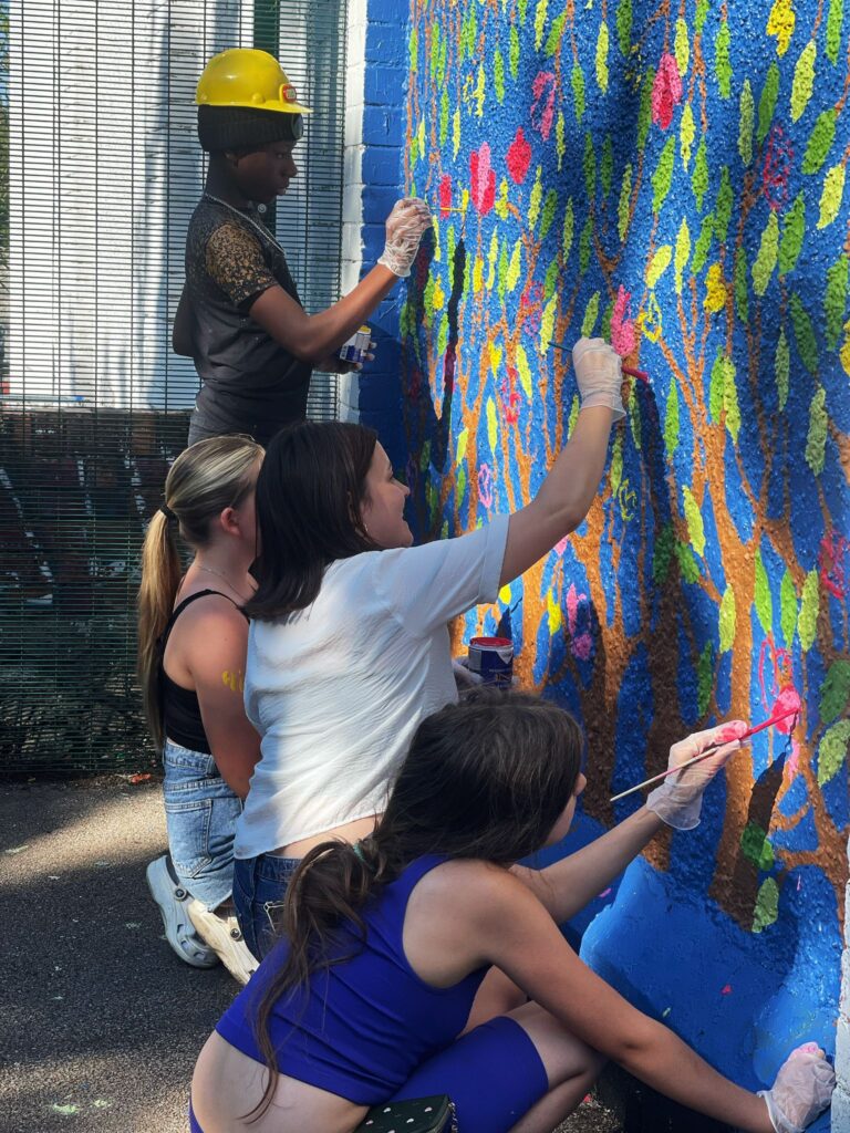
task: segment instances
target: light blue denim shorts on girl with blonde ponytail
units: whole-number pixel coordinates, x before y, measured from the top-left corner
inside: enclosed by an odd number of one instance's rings
[[[203,751],[165,740],[162,764],[171,861],[193,897],[216,909],[233,892],[233,830],[241,800]]]

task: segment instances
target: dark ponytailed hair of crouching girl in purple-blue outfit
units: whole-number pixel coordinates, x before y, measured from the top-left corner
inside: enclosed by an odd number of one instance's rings
[[[578,724],[556,705],[492,688],[419,724],[374,833],[356,849],[314,846],[289,884],[281,926],[289,953],[264,988],[255,1024],[270,1075],[252,1113],[265,1113],[274,1092],[274,1004],[346,959],[334,955],[340,923],[365,936],[363,905],[424,854],[508,867],[539,850],[576,790],[581,742]]]

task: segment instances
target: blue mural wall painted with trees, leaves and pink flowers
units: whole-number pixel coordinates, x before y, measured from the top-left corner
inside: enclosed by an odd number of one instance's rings
[[[600,898],[583,945],[755,1085],[802,1038],[835,1048],[850,12],[413,0],[408,41],[405,182],[439,218],[400,313],[420,535],[533,496],[578,412],[580,334],[648,374],[586,522],[464,633],[507,629],[524,683],[580,718],[596,828],[682,734],[799,707],[697,832]]]

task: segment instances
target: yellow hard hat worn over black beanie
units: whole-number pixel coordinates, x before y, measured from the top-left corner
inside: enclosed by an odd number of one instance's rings
[[[244,107],[311,114],[274,56],[258,48],[230,48],[204,67],[195,95],[198,107]]]

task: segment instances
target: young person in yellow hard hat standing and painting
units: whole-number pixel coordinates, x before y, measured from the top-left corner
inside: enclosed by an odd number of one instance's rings
[[[277,59],[249,48],[211,59],[196,101],[210,164],[173,329],[175,350],[194,359],[203,383],[189,443],[246,433],[265,444],[305,416],[314,366],[343,368],[339,348],[410,273],[431,214],[423,201],[398,201],[377,264],[339,303],[308,315],[261,210],[297,176],[292,151],[311,111]]]

